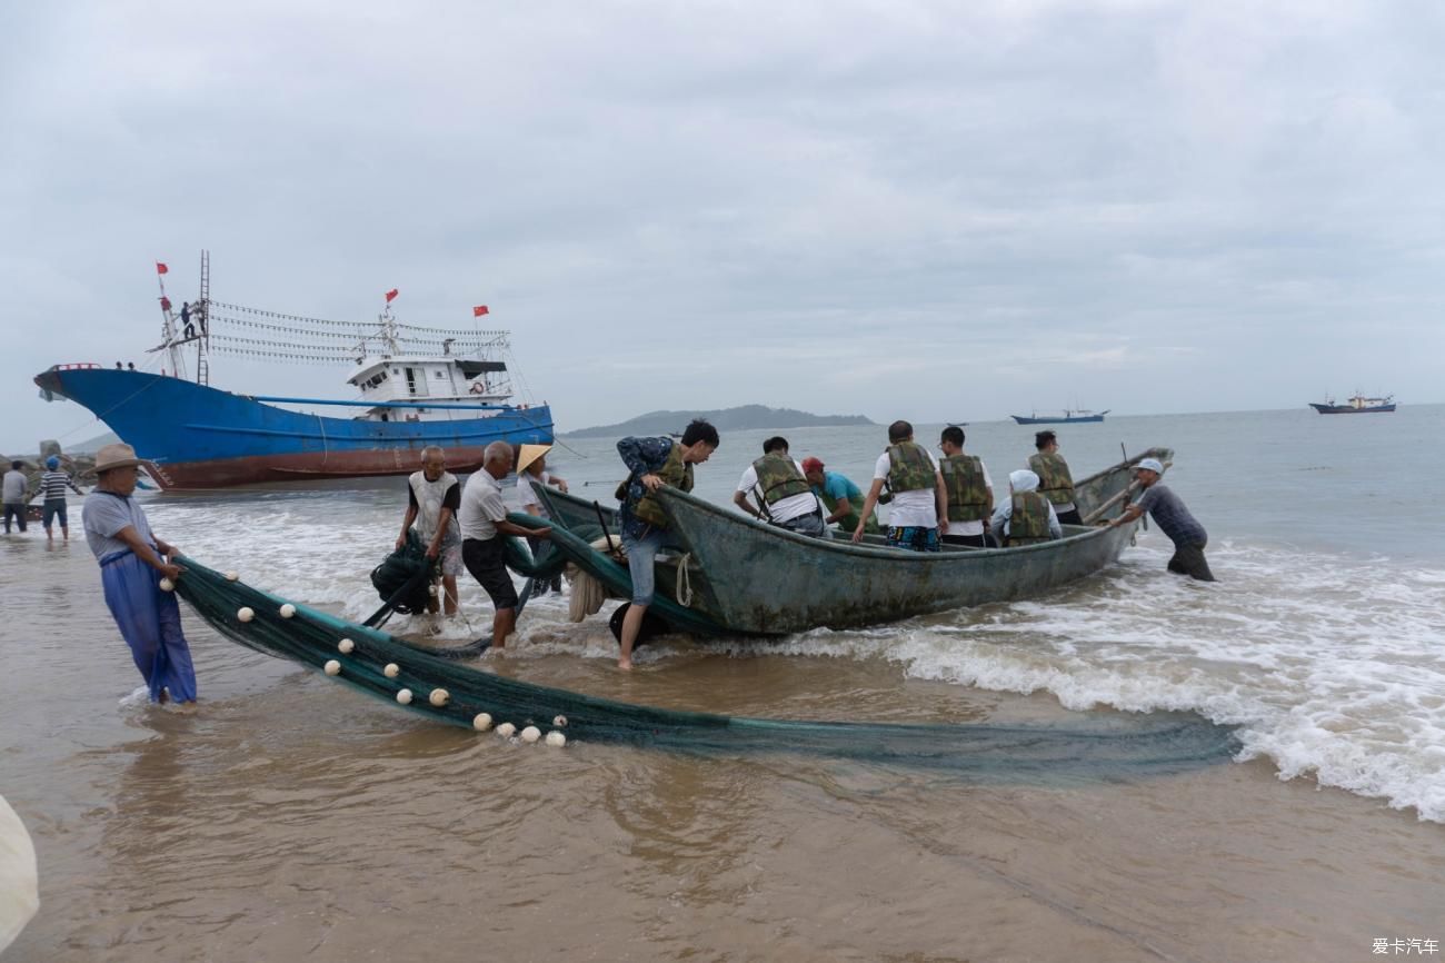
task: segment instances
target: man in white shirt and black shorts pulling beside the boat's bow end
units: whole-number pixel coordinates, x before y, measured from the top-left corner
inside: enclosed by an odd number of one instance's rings
[[[503,538],[552,538],[552,529],[523,528],[507,521],[501,480],[512,473],[512,445],[493,441],[483,455],[481,471],[467,479],[461,493],[461,560],[471,577],[487,590],[497,613],[491,617],[491,648],[507,645],[517,628],[517,588],[507,571]]]

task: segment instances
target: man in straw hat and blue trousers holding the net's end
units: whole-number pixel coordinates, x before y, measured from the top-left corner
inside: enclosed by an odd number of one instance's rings
[[[162,578],[181,578],[171,561],[176,549],[150,531],[144,509],[131,497],[140,477],[136,450],[105,445],[95,453],[95,487],[85,496],[81,522],[100,561],[105,606],[146,680],[150,701],[194,703],[195,667],[181,630],[181,606]]]

